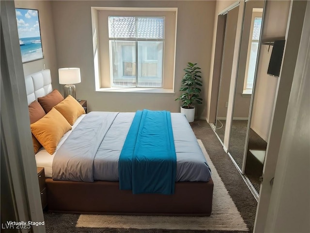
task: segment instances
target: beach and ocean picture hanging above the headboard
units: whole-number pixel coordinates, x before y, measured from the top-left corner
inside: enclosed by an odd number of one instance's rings
[[[44,56],[38,10],[15,8],[15,12],[22,62],[42,59]]]

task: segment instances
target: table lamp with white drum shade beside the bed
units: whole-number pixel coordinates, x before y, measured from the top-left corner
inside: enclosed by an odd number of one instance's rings
[[[59,83],[65,84],[63,87],[63,97],[66,98],[71,95],[74,99],[76,98],[76,86],[75,83],[81,82],[81,73],[79,68],[60,68],[58,69]]]

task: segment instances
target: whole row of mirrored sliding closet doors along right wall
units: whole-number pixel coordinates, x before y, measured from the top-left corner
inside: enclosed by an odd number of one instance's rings
[[[214,130],[257,200],[279,83],[268,70],[273,51],[283,52],[289,10],[289,1],[246,0],[226,13]]]

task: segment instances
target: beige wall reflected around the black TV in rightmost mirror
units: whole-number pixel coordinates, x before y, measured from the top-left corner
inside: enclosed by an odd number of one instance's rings
[[[267,23],[263,27],[263,40],[272,37],[285,37],[289,9],[290,1],[267,2],[265,13]],[[251,128],[265,141],[268,141],[279,78],[267,74],[272,46],[262,45],[260,52]]]

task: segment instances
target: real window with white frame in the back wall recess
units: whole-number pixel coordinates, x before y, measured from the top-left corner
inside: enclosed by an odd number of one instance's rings
[[[164,17],[109,16],[112,87],[162,87]]]

